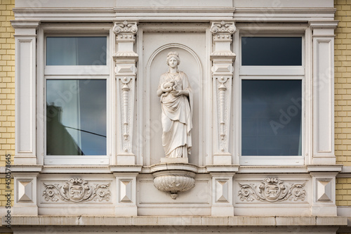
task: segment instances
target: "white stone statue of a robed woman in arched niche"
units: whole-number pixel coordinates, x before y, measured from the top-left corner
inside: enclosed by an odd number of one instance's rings
[[[178,70],[179,54],[169,52],[168,72],[161,74],[157,96],[161,100],[162,145],[166,157],[187,158],[192,148],[192,89],[184,72]]]

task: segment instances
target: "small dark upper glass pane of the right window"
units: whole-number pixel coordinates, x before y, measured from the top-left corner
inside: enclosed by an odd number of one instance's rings
[[[241,65],[300,66],[302,37],[242,37]]]

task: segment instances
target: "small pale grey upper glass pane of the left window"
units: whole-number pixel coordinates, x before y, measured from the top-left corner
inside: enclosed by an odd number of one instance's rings
[[[107,37],[47,37],[46,65],[106,65]]]

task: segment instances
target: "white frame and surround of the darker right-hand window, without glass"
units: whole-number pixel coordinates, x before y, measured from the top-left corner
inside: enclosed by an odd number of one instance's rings
[[[234,84],[234,111],[236,117],[236,142],[238,162],[241,166],[301,166],[307,163],[308,152],[310,151],[310,135],[308,134],[307,121],[311,116],[311,110],[307,109],[310,105],[310,101],[307,98],[310,97],[311,91],[307,88],[307,82],[310,82],[310,66],[307,64],[308,51],[312,50],[312,45],[308,44],[308,33],[309,30],[307,25],[301,25],[298,27],[284,25],[260,25],[255,34],[252,33],[252,26],[248,25],[237,25],[237,33],[234,39],[234,49],[237,53],[236,60],[236,74]],[[301,66],[242,66],[241,65],[241,37],[302,37],[302,65]],[[308,68],[308,69],[307,69]],[[296,156],[243,156],[241,155],[241,80],[242,79],[299,79],[302,81],[302,110],[301,110],[301,122],[302,122],[302,142],[301,142],[301,155]],[[308,86],[309,87],[309,86]]]

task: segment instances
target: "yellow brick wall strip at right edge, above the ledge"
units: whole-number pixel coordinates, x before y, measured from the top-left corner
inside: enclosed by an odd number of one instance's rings
[[[351,1],[334,0],[335,38],[335,153],[338,164],[351,166]]]

